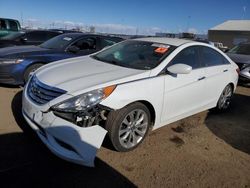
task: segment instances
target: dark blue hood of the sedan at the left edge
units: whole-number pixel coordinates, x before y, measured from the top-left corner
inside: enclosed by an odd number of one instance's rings
[[[32,53],[42,53],[49,49],[39,46],[13,46],[0,49],[0,58],[25,58]]]

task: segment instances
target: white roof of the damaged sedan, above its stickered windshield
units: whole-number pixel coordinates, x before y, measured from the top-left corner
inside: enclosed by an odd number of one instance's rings
[[[171,46],[180,46],[185,43],[193,42],[191,40],[178,39],[178,38],[167,38],[167,37],[147,37],[147,38],[137,38],[133,40],[146,41],[146,42],[156,42],[162,44],[168,44]]]

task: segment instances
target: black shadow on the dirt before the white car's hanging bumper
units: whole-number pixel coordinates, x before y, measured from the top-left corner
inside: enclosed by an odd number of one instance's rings
[[[21,96],[14,97],[12,111],[24,133],[0,135],[1,187],[135,187],[101,159],[88,168],[50,153],[23,119]]]

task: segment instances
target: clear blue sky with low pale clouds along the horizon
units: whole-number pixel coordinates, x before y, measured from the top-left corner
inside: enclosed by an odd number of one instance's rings
[[[30,27],[206,34],[226,20],[250,20],[250,0],[0,0],[0,17]]]

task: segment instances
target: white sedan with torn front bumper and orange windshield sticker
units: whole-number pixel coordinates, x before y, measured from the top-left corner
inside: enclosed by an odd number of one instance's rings
[[[237,71],[209,44],[127,40],[40,68],[24,89],[23,115],[53,153],[93,166],[106,133],[116,150],[129,151],[150,127],[227,109]]]

